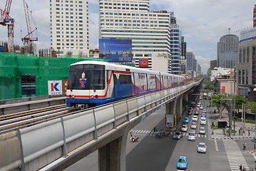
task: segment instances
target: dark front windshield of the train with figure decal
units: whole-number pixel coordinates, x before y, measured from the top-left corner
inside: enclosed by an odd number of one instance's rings
[[[103,90],[105,83],[105,66],[86,64],[69,68],[70,90]]]

